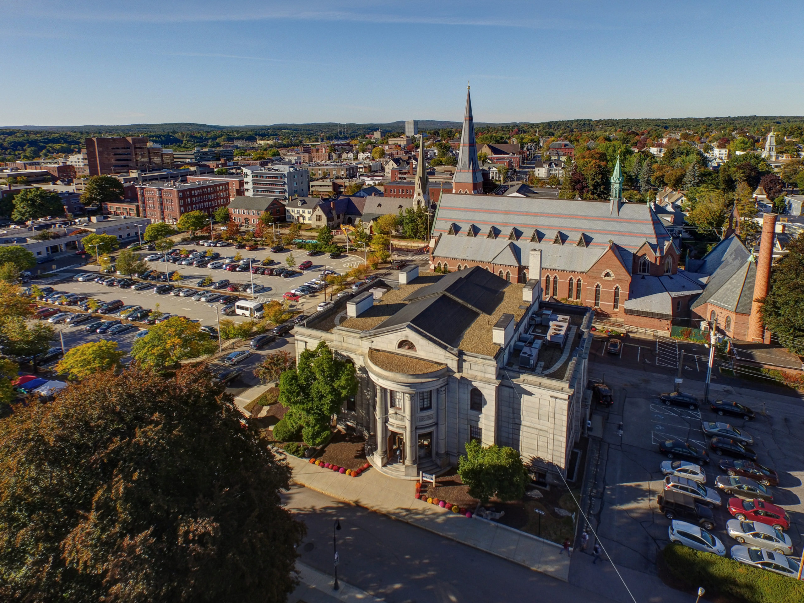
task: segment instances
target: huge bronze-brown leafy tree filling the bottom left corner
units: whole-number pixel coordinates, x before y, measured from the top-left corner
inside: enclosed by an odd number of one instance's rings
[[[15,407],[0,599],[284,603],[305,527],[289,467],[242,422],[203,368],[100,372]]]

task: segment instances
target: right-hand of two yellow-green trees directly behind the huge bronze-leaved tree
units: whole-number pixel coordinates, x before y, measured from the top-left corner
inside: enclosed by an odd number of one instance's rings
[[[156,367],[175,367],[180,360],[198,358],[218,349],[217,342],[201,330],[197,322],[173,316],[154,325],[148,334],[134,342],[133,358]]]

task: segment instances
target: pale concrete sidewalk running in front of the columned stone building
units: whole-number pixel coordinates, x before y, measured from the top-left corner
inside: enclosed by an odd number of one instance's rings
[[[287,458],[293,469],[293,481],[310,490],[389,515],[559,580],[568,580],[569,558],[560,555],[560,544],[485,519],[467,519],[416,500],[413,498],[416,486],[411,481],[389,478],[371,469],[351,478],[302,458],[292,455]]]

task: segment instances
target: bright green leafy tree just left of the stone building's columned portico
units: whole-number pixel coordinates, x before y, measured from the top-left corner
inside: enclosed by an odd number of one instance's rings
[[[330,434],[332,416],[357,388],[355,365],[318,343],[301,352],[295,369],[281,374],[279,401],[289,408],[283,420],[301,426],[308,445],[321,445]]]

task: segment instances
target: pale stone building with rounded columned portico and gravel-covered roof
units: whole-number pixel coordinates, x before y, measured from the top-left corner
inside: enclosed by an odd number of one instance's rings
[[[359,392],[339,425],[367,437],[372,466],[398,478],[457,465],[466,443],[518,449],[537,480],[560,483],[588,418],[592,311],[539,301],[541,253],[527,284],[485,269],[418,267],[374,281],[294,334],[350,359]],[[551,320],[552,319],[552,320]]]

